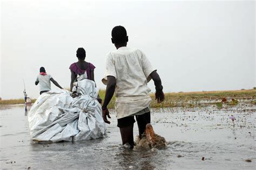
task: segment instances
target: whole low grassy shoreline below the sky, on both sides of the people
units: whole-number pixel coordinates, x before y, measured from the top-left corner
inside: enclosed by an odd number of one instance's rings
[[[99,96],[104,100],[105,90],[99,90]],[[169,107],[194,107],[205,104],[217,104],[220,103],[223,98],[226,98],[226,104],[232,105],[232,98],[238,101],[244,100],[252,104],[256,104],[256,90],[229,90],[229,91],[194,91],[194,92],[179,92],[179,93],[166,93],[165,101],[157,103],[154,100],[154,94],[150,94],[152,98],[152,108],[169,108]],[[31,102],[35,103],[36,99],[32,99]],[[113,97],[109,103],[108,108],[114,108],[114,101],[116,97]],[[8,104],[24,104],[24,99],[16,100],[1,100],[0,105]]]

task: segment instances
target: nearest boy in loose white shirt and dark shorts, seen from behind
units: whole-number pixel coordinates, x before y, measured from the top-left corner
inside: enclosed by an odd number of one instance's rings
[[[133,148],[134,116],[137,119],[140,138],[144,135],[146,124],[150,123],[151,97],[147,82],[151,79],[154,81],[158,103],[164,101],[163,86],[146,55],[139,49],[126,47],[128,36],[123,26],[114,27],[111,35],[117,50],[110,52],[106,57],[105,77],[102,79],[107,85],[102,105],[103,119],[105,123],[110,124],[107,120],[107,117],[111,118],[107,104],[116,91],[115,109],[122,143],[128,143]]]

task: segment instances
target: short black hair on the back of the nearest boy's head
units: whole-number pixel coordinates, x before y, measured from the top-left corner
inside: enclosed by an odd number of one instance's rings
[[[114,43],[116,44],[126,42],[127,32],[125,30],[125,27],[121,25],[113,27],[111,36],[114,40]]]

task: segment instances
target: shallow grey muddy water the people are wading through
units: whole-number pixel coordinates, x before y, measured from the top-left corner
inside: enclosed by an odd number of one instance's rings
[[[30,140],[24,105],[1,106],[0,111],[2,169],[254,169],[256,166],[255,105],[221,110],[152,109],[154,131],[168,143],[162,150],[123,148],[114,113],[102,139],[38,144]],[[234,124],[231,115],[236,118]],[[134,127],[136,136],[137,124]]]

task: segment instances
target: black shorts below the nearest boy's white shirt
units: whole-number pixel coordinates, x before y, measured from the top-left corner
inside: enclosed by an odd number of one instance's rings
[[[136,115],[136,119],[137,121],[138,119],[144,119],[145,121],[149,120],[149,123],[150,123],[150,112],[147,112],[143,115]],[[125,128],[127,126],[134,124],[134,122],[136,122],[134,119],[134,116],[123,117],[123,118],[117,119],[117,127]]]

